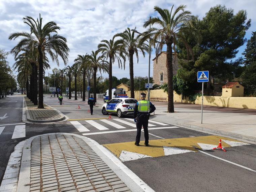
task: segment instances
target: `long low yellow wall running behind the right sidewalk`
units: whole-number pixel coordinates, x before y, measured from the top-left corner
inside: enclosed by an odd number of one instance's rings
[[[141,91],[148,95],[148,91]],[[139,91],[135,91],[135,99],[139,100]],[[130,97],[131,92],[128,91],[127,95]],[[167,93],[163,90],[151,90],[150,97],[166,97],[168,101]],[[181,95],[173,92],[173,101],[181,102]],[[188,97],[183,98],[184,103],[192,103],[188,100]],[[201,104],[202,97],[197,97],[195,104]],[[256,97],[223,97],[223,96],[203,96],[203,104],[210,106],[220,106],[220,107],[233,107],[233,108],[249,108],[256,109]]]

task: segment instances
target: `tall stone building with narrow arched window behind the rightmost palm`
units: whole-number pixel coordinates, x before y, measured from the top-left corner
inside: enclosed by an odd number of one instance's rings
[[[156,62],[156,57],[153,59],[153,81],[154,84],[162,85],[167,83],[167,67],[166,67],[166,52],[162,51],[158,55]],[[174,63],[174,53],[172,53],[172,71],[173,75],[177,74],[178,70],[178,57],[175,58]]]

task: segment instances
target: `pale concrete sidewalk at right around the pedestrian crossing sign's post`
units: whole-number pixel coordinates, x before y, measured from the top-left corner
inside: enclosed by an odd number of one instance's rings
[[[199,109],[174,107],[175,113],[166,113],[167,107],[157,103],[155,106],[155,116],[151,118],[156,121],[256,142],[256,119],[253,114],[211,111],[208,108],[203,111],[201,124]]]

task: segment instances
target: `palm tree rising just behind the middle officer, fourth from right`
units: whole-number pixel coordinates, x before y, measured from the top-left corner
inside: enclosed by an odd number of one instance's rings
[[[101,73],[101,70],[103,71],[103,73],[106,71],[108,72],[108,62],[104,60],[104,56],[98,56],[99,54],[99,50],[97,51],[92,51],[91,55],[89,55],[89,59],[90,59],[90,66],[93,69],[93,97],[95,99],[95,102],[97,102],[96,99],[96,74],[97,71],[99,71]],[[88,98],[89,99],[89,98]]]

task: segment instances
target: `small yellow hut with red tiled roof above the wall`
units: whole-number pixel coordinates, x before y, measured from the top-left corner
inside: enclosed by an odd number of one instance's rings
[[[222,86],[222,97],[244,97],[244,87],[238,82],[228,82]]]

